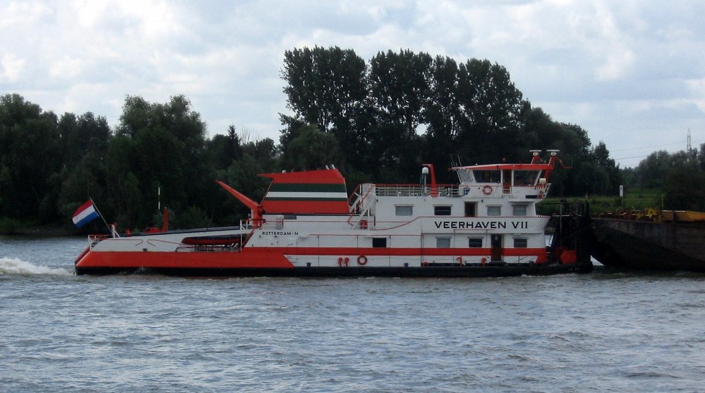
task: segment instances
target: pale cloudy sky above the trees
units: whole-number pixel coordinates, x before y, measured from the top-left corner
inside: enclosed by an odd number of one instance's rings
[[[209,134],[278,141],[283,53],[486,58],[623,167],[705,143],[703,1],[0,0],[0,94],[115,126],[125,96],[190,98]],[[541,146],[537,146],[541,148]]]

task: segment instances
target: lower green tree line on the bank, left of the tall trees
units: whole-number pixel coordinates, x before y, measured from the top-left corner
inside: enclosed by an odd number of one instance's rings
[[[18,94],[0,97],[0,229],[66,224],[92,198],[110,223],[141,230],[161,225],[158,205],[173,227],[237,224],[247,210],[215,179],[261,197],[257,173],[276,169],[269,138],[247,141],[231,126],[207,138],[188,98],[149,103],[128,96],[119,124],[91,112],[61,117]],[[87,231],[102,231],[94,221]]]

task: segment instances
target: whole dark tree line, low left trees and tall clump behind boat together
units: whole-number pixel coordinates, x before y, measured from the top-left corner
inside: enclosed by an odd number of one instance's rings
[[[215,179],[257,200],[268,186],[256,176],[263,172],[333,164],[352,190],[416,182],[426,162],[527,162],[532,148],[561,150],[574,168],[556,172],[554,195],[613,193],[621,181],[604,143],[591,146],[580,126],[532,107],[489,60],[387,51],[366,62],[350,49],[314,47],[286,51],[281,77],[290,112],[280,115],[278,143],[234,125],[209,137],[185,96],[127,96],[114,127],[92,112],[58,116],[1,96],[0,220],[70,223],[92,198],[122,228],[158,226],[158,204],[176,227],[237,224],[247,210]]]

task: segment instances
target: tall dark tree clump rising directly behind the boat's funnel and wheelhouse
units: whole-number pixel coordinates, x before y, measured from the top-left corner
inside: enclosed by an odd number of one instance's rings
[[[559,195],[611,193],[620,184],[604,143],[593,147],[580,126],[532,107],[505,67],[489,60],[402,50],[366,62],[352,49],[316,46],[286,51],[281,77],[292,113],[281,115],[285,167],[339,162],[355,179],[416,181],[424,162],[526,162],[528,150],[540,148],[561,150],[575,167],[557,174]],[[307,162],[311,146],[325,153]]]

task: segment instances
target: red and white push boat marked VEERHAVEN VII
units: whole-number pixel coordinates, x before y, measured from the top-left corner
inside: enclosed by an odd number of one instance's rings
[[[588,212],[537,214],[556,150],[527,164],[458,166],[437,184],[364,183],[348,196],[335,167],[260,174],[262,202],[216,181],[250,208],[239,226],[89,236],[76,274],[178,276],[497,277],[587,272]],[[552,229],[547,241],[546,227]],[[587,236],[589,238],[589,236]]]

